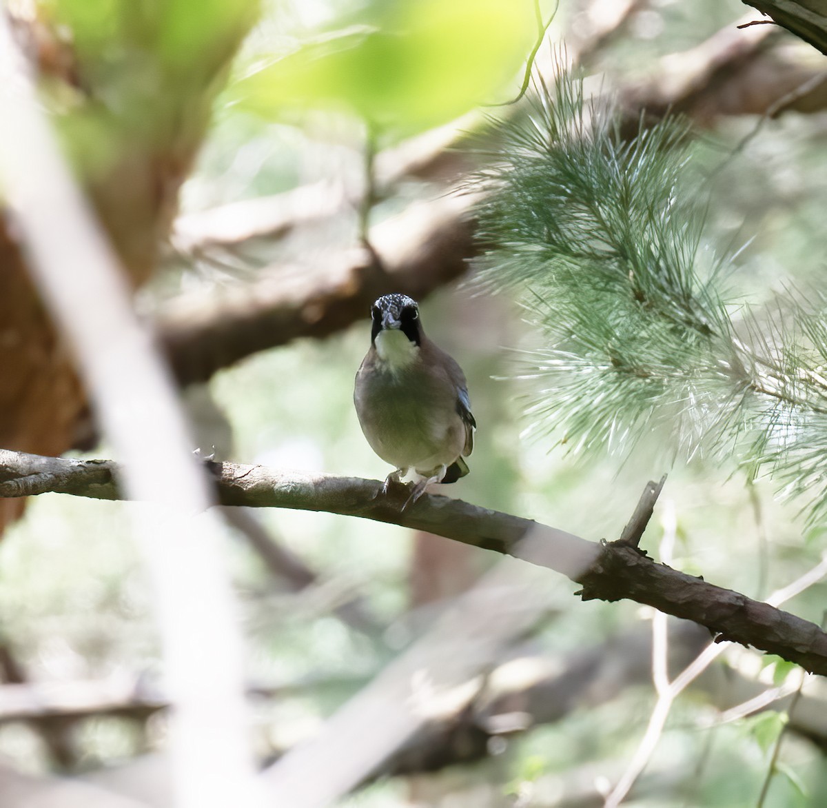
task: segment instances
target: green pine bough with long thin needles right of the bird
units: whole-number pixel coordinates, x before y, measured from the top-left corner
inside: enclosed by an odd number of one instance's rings
[[[823,518],[825,303],[728,299],[734,256],[704,240],[686,126],[623,141],[614,112],[563,76],[499,129],[479,178],[483,277],[522,291],[546,342],[526,360],[541,383],[532,428],[576,452],[629,452],[654,432],[676,456],[734,454]]]

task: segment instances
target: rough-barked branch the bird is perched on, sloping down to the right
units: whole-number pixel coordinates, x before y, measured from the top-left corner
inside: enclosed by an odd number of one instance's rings
[[[237,463],[210,462],[208,467],[222,504],[327,511],[437,533],[561,572],[583,586],[584,600],[635,600],[705,625],[719,640],[753,645],[805,670],[827,674],[827,633],[814,623],[657,564],[631,547],[586,541],[530,519],[444,496],[425,495],[403,511],[408,489],[393,486],[382,495],[379,480]],[[118,474],[112,461],[0,450],[0,496],[54,491],[117,500]]]

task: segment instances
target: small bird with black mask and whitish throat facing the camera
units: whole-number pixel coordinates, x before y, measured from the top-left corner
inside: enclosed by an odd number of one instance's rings
[[[428,339],[417,302],[385,294],[370,307],[370,348],[356,373],[353,401],[370,448],[394,466],[382,493],[414,471],[403,509],[431,483],[468,473],[474,448],[466,377],[452,356]]]

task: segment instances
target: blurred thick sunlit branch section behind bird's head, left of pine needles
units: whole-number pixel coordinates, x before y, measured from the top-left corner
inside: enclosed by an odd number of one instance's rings
[[[389,292],[423,299],[462,275],[476,245],[467,217],[471,196],[419,203],[371,231],[370,251],[353,249],[332,261],[323,280],[285,267],[260,280],[176,299],[157,327],[182,385],[204,381],[220,367],[297,337],[327,337],[364,318]]]

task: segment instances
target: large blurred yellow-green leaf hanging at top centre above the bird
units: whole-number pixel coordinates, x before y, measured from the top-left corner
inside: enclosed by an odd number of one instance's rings
[[[495,100],[533,36],[527,0],[374,0],[338,29],[253,70],[234,92],[246,108],[345,108],[374,127],[417,131]]]

